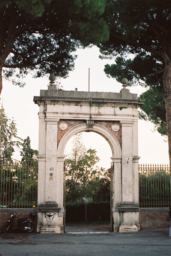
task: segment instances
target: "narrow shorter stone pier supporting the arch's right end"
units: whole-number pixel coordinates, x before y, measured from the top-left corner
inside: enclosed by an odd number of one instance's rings
[[[122,201],[121,191],[121,157],[111,157],[113,163],[112,174],[112,225],[113,231],[118,232],[120,225],[120,214],[118,207]]]

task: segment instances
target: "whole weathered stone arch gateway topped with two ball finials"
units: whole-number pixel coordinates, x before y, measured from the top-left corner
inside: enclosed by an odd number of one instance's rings
[[[39,105],[37,232],[63,233],[63,167],[68,140],[95,132],[112,149],[114,232],[139,230],[138,111],[142,101],[123,84],[120,93],[57,90],[52,75]],[[123,79],[127,81],[127,79]]]

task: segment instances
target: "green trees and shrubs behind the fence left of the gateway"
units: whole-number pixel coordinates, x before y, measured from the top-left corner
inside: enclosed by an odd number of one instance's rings
[[[23,143],[22,143],[23,142]],[[22,148],[21,163],[13,160],[16,149]],[[38,151],[30,147],[30,139],[18,138],[14,120],[0,110],[0,205],[30,207],[37,201]]]

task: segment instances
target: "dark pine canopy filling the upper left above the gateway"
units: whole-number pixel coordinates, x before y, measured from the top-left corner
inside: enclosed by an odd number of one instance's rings
[[[0,93],[6,78],[23,86],[34,77],[54,73],[66,77],[74,68],[77,47],[108,39],[101,17],[105,0],[1,0]],[[17,70],[17,72],[16,72]]]

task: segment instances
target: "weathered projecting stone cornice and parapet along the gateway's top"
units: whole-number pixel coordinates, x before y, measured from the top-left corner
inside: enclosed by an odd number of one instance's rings
[[[135,93],[85,92],[66,90],[41,90],[40,96],[34,96],[38,105],[89,105],[136,108],[143,104]]]

